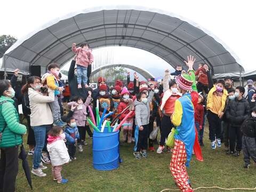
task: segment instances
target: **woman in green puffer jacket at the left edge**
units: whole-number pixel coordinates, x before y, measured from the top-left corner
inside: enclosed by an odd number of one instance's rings
[[[19,123],[19,114],[11,99],[14,95],[10,82],[0,80],[0,191],[15,191],[19,145],[21,136],[27,132],[26,126]]]

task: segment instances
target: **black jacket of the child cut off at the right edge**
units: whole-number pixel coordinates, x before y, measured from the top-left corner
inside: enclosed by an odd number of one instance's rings
[[[250,115],[244,121],[241,130],[246,137],[256,138],[256,118]]]

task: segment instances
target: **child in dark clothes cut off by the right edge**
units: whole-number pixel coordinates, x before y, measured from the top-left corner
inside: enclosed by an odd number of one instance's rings
[[[256,163],[256,107],[252,109],[252,113],[245,119],[242,125],[242,132],[244,168],[248,169],[251,164],[250,158]]]

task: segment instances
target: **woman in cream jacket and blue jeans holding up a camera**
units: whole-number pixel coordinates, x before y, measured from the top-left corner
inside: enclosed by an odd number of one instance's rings
[[[34,130],[36,140],[33,169],[31,172],[38,177],[45,177],[46,174],[42,170],[47,167],[43,166],[41,158],[44,163],[50,163],[47,155],[45,153],[42,154],[42,150],[45,147],[46,133],[51,129],[53,123],[52,110],[49,103],[54,101],[54,91],[47,89],[47,93],[42,93],[41,79],[35,76],[29,77],[26,87],[31,110],[30,125]]]

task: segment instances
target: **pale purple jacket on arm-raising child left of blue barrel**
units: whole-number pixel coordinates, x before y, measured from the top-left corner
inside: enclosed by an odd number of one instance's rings
[[[87,97],[85,103],[82,105],[82,109],[77,110],[77,108],[74,110],[74,114],[73,114],[73,118],[76,120],[76,125],[77,126],[85,126],[85,122],[86,122],[86,117],[87,117],[87,107],[90,105],[92,98],[91,97]],[[69,102],[68,106],[71,107],[73,105],[73,103],[76,102]]]

